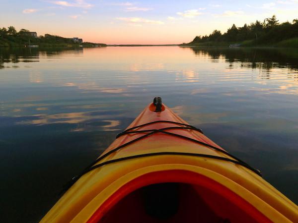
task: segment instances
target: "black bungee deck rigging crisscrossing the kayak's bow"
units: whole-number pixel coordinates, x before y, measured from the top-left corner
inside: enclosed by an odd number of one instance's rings
[[[131,131],[131,130],[134,130],[136,128],[139,128],[139,127],[143,127],[143,126],[146,126],[146,125],[149,125],[149,124],[153,124],[153,123],[157,123],[157,122],[166,122],[166,123],[173,123],[173,124],[179,124],[179,125],[183,125],[183,126],[187,126],[187,127],[182,127],[182,126],[173,126],[173,127],[165,127],[165,128],[161,128],[161,129],[147,129],[147,130],[136,130],[136,131]],[[240,160],[239,158],[229,154],[228,152],[226,152],[225,150],[223,149],[220,149],[218,147],[215,147],[215,146],[212,146],[208,143],[204,143],[204,142],[201,142],[199,140],[196,140],[196,139],[193,139],[193,138],[190,138],[190,137],[187,137],[187,136],[183,136],[183,135],[179,135],[179,134],[176,134],[176,133],[172,133],[172,132],[167,132],[165,130],[170,130],[170,129],[189,129],[189,130],[195,130],[195,131],[199,131],[201,133],[202,130],[199,129],[199,128],[196,128],[192,125],[189,125],[189,124],[184,124],[184,123],[180,123],[180,122],[175,122],[175,121],[167,121],[167,120],[158,120],[158,121],[152,121],[152,122],[148,122],[148,123],[145,123],[145,124],[142,124],[142,125],[138,125],[138,126],[134,126],[132,128],[129,128],[129,129],[126,129],[125,131],[123,131],[122,133],[119,133],[117,135],[116,138],[122,136],[122,135],[126,135],[126,134],[134,134],[134,133],[146,133],[146,132],[149,132],[145,135],[142,135],[136,139],[133,139],[121,146],[118,146],[112,150],[110,150],[109,152],[103,154],[102,156],[98,157],[95,161],[93,161],[88,167],[86,167],[79,175],[76,175],[72,178],[72,180],[66,185],[66,188],[63,190],[63,192],[65,192],[68,188],[70,188],[82,175],[84,175],[85,173],[91,171],[92,169],[95,169],[97,167],[102,167],[104,165],[107,165],[107,164],[110,164],[110,163],[116,163],[116,162],[120,162],[120,161],[123,161],[123,160],[129,160],[129,159],[135,159],[135,158],[140,158],[140,157],[149,157],[149,156],[157,156],[157,155],[187,155],[187,156],[197,156],[197,157],[206,157],[206,158],[212,158],[212,159],[218,159],[218,160],[224,160],[224,161],[229,161],[229,162],[232,162],[234,164],[238,164],[238,165],[241,165],[243,167],[246,167],[250,170],[252,170],[253,172],[257,173],[258,175],[262,176],[261,172],[253,167],[250,167],[248,164],[246,164],[244,161]],[[115,160],[109,160],[109,161],[106,161],[106,162],[103,162],[101,164],[97,164],[95,165],[96,163],[98,163],[99,161],[101,161],[102,159],[104,159],[105,157],[109,156],[110,154],[120,150],[121,148],[123,147],[126,147],[136,141],[139,141],[141,139],[144,139],[154,133],[157,133],[157,132],[160,132],[160,133],[164,133],[164,134],[168,134],[168,135],[172,135],[172,136],[176,136],[176,137],[180,137],[180,138],[183,138],[183,139],[186,139],[186,140],[189,140],[189,141],[192,141],[192,142],[195,142],[195,143],[198,143],[198,144],[201,144],[201,145],[204,145],[204,146],[207,146],[207,147],[210,147],[216,151],[219,151],[221,153],[224,153],[225,155],[235,159],[235,160],[232,160],[232,159],[229,159],[229,158],[225,158],[225,157],[218,157],[218,156],[213,156],[213,155],[207,155],[207,154],[194,154],[194,153],[184,153],[184,152],[158,152],[158,153],[149,153],[149,154],[140,154],[140,155],[135,155],[135,156],[130,156],[130,157],[123,157],[123,158],[119,158],[119,159],[115,159]]]

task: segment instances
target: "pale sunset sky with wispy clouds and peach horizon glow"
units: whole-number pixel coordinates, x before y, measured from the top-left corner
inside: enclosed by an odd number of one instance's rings
[[[180,44],[277,16],[298,18],[298,0],[0,0],[0,27],[85,42]]]

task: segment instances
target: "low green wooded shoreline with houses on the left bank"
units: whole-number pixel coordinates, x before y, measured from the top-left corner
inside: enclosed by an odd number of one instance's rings
[[[13,26],[0,28],[0,47],[22,47],[29,45],[39,46],[106,46],[105,44],[74,43],[72,38],[65,38],[56,35],[45,34],[44,36],[33,37],[27,29],[20,29],[18,32]]]

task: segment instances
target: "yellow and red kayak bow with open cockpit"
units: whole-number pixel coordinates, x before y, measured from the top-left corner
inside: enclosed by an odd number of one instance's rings
[[[298,206],[155,98],[41,222],[288,223]]]

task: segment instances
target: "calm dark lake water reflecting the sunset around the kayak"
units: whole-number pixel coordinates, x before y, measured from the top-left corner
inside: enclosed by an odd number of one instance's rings
[[[0,49],[0,219],[38,221],[155,96],[298,203],[297,49]]]

